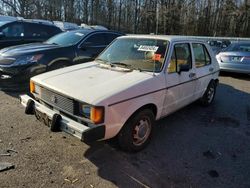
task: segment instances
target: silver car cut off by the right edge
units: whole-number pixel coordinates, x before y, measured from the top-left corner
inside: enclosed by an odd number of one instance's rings
[[[234,42],[216,58],[221,71],[250,74],[250,41]]]

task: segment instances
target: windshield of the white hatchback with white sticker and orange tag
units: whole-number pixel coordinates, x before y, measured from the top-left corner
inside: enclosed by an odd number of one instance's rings
[[[160,72],[168,41],[147,38],[120,38],[114,41],[97,60],[115,66]]]

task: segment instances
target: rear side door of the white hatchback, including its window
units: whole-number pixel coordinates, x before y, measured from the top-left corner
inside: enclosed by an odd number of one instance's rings
[[[200,98],[213,78],[212,73],[216,67],[212,64],[212,58],[203,43],[192,43],[192,51],[194,54],[194,68],[197,75],[195,95],[196,98]]]

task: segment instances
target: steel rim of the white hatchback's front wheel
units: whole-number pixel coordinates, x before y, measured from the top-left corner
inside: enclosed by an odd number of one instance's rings
[[[133,144],[140,146],[144,144],[151,132],[151,121],[148,117],[141,118],[133,130]]]

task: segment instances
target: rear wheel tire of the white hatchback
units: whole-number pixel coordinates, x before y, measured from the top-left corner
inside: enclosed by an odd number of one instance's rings
[[[203,106],[209,106],[214,101],[216,86],[217,84],[214,80],[210,81],[207,86],[207,90],[200,99],[200,102]]]

